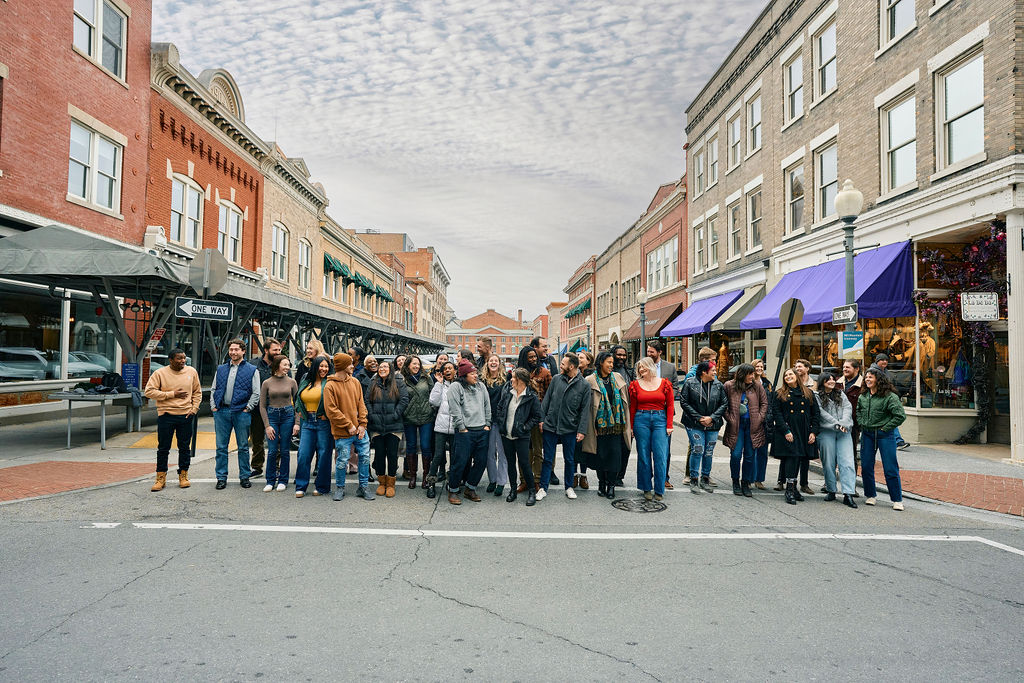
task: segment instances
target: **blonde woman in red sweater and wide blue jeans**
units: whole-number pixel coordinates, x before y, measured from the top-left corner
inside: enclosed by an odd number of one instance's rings
[[[648,501],[665,496],[674,401],[672,383],[657,376],[653,360],[640,358],[637,379],[630,382],[630,422],[637,439],[637,488]]]

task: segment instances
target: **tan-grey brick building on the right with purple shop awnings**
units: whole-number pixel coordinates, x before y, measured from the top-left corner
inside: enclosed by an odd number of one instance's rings
[[[705,311],[689,322],[691,345],[710,342],[730,366],[771,356],[779,299],[813,303],[843,291],[842,275],[818,273],[842,251],[834,202],[850,178],[864,198],[855,231],[864,250],[855,267],[860,341],[868,355],[891,355],[907,440],[963,433],[977,416],[976,387],[951,369],[973,362],[969,340],[957,319],[916,314],[910,295],[944,296],[923,253],[955,263],[993,220],[1006,221],[1013,255],[993,271],[1024,278],[1021,30],[1010,0],[769,2],[687,109],[689,310]],[[871,263],[884,278],[870,274]],[[1011,314],[991,324],[990,393],[1006,398],[987,434],[1017,445],[1024,362],[1010,349],[1024,341],[1022,300],[1012,291]],[[823,309],[805,311],[783,356],[768,357],[770,370],[797,357],[835,367],[830,321]]]

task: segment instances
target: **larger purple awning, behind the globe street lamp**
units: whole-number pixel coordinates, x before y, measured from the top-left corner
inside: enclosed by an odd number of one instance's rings
[[[910,243],[900,242],[857,254],[853,259],[858,315],[909,317],[916,314]],[[831,311],[846,303],[845,259],[794,270],[778,282],[739,324],[741,330],[783,327],[779,308],[788,299],[804,304],[802,325],[831,323]]]

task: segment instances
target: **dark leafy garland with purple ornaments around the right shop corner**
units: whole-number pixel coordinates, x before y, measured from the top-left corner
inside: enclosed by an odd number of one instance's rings
[[[999,309],[1007,307],[1007,225],[993,220],[986,234],[965,245],[956,267],[950,267],[949,257],[943,252],[919,250],[922,265],[927,267],[939,289],[948,293],[942,299],[929,298],[928,292],[915,290],[913,301],[919,316],[945,315],[962,319],[961,294],[964,292],[995,292],[999,295]],[[992,418],[991,377],[989,367],[994,359],[994,335],[988,323],[961,323],[965,343],[971,345],[973,365],[972,383],[977,394],[978,419],[953,443],[970,443],[988,428]]]

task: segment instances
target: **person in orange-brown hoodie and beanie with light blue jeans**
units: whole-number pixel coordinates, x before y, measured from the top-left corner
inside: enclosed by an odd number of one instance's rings
[[[345,497],[346,458],[354,445],[358,456],[359,487],[355,495],[368,501],[376,498],[370,489],[370,437],[367,435],[367,404],[362,399],[362,385],[352,377],[352,356],[334,354],[334,375],[324,384],[324,412],[331,421],[335,438],[334,500]]]

